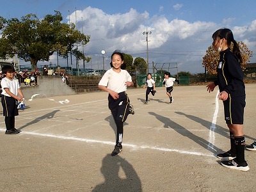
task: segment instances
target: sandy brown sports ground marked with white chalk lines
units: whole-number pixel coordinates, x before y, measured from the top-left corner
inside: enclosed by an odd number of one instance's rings
[[[145,89],[127,90],[135,115],[117,157],[108,93],[27,101],[15,121],[20,134],[4,134],[0,116],[0,191],[255,191],[256,152],[245,151],[248,172],[215,156],[230,147],[217,91],[175,86],[170,104],[162,87],[143,104]],[[256,139],[255,98],[256,84],[246,84],[247,144]]]

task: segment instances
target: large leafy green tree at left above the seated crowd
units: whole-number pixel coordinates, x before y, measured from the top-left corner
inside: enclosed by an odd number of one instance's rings
[[[32,70],[35,70],[38,61],[49,61],[54,52],[64,58],[72,51],[75,44],[87,44],[90,36],[83,35],[75,29],[74,24],[65,24],[61,21],[60,12],[55,15],[46,15],[38,19],[35,14],[28,14],[21,19],[6,20],[0,17],[0,28],[3,30],[0,38],[0,58],[9,58],[17,54],[18,58],[30,61]],[[75,51],[81,56],[81,51]]]

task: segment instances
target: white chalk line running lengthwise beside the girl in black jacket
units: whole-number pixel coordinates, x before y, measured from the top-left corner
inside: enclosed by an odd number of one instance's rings
[[[218,111],[219,111],[219,99],[218,99],[218,95],[219,95],[220,91],[218,90],[216,97],[215,97],[215,111],[214,111],[214,115],[212,117],[212,124],[210,127],[210,131],[209,131],[209,143],[208,143],[208,147],[209,148],[214,148],[214,141],[215,141],[215,129],[216,129],[216,122],[217,122],[217,116],[218,116]]]

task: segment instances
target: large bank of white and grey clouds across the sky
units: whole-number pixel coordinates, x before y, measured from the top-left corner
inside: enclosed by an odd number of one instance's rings
[[[134,58],[142,57],[147,60],[146,35],[143,35],[143,31],[148,28],[152,32],[148,34],[150,63],[177,62],[179,71],[204,72],[202,57],[212,43],[212,33],[223,28],[223,24],[214,22],[168,20],[164,15],[150,17],[147,12],[139,13],[132,8],[127,13],[109,15],[89,6],[72,13],[71,22],[76,22],[76,15],[77,29],[81,31],[83,26],[84,34],[91,36],[84,51],[92,56],[92,62],[86,64],[93,65],[93,68],[102,68],[102,49],[106,51],[106,63],[110,62],[111,53],[116,49],[131,54]],[[232,18],[225,22],[232,22]],[[230,29],[234,31],[237,40],[246,40],[250,47],[254,43],[255,49],[256,20],[250,26]]]

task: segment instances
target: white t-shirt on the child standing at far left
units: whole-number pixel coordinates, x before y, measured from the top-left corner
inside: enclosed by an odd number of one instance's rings
[[[4,88],[8,88],[10,90],[11,93],[13,93],[13,95],[18,95],[18,89],[20,89],[20,84],[19,84],[19,80],[18,79],[7,79],[6,77],[4,77],[1,81],[1,86],[2,86],[2,95],[5,95],[7,97],[11,97],[10,95],[8,95],[6,93],[6,91],[4,90]]]

